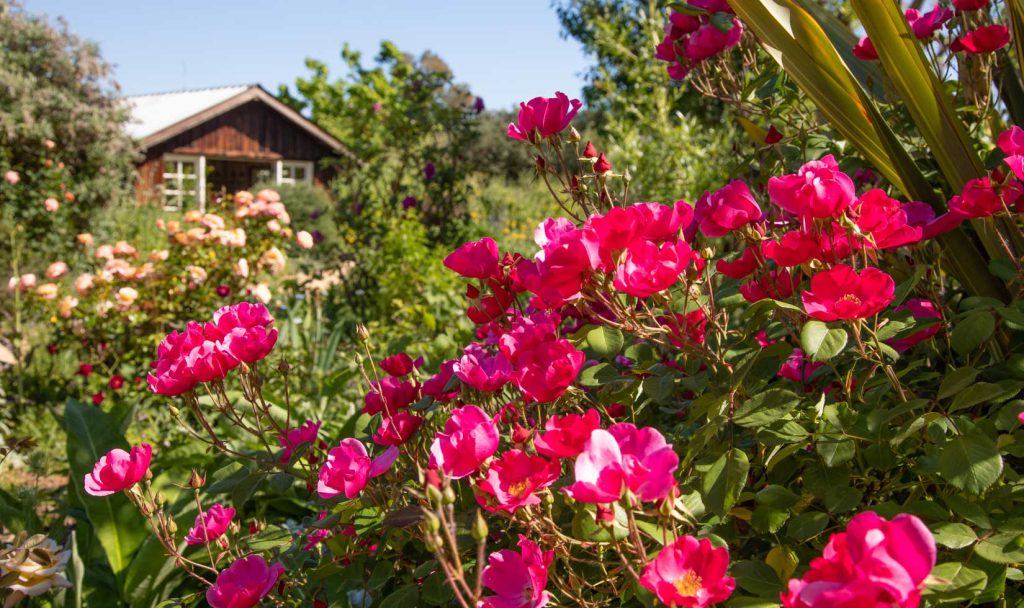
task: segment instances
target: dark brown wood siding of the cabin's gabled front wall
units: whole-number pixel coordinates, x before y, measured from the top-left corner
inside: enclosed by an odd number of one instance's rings
[[[218,175],[217,168],[220,167],[223,173],[224,162],[229,161],[258,161],[270,167],[279,160],[311,161],[313,183],[318,185],[327,184],[334,173],[321,167],[323,159],[335,156],[329,146],[259,100],[213,117],[145,150],[144,160],[138,165],[138,201],[160,200],[165,154],[206,156],[208,166],[214,169],[207,179],[208,194],[221,187],[228,191],[239,189],[241,182],[234,172],[224,175],[223,179]]]

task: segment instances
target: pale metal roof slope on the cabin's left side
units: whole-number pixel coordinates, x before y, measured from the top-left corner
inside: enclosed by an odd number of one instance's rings
[[[125,125],[125,130],[132,137],[144,139],[190,116],[226,101],[253,86],[255,85],[214,87],[125,97],[125,101],[131,107],[132,116],[131,121]]]

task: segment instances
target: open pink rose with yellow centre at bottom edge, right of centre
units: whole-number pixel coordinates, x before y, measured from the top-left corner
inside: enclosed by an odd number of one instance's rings
[[[640,584],[666,606],[705,608],[724,602],[736,581],[725,572],[729,551],[714,548],[708,538],[680,536],[666,545],[644,569]]]

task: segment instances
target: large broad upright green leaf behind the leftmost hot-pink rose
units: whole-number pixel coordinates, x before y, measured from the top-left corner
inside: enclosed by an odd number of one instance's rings
[[[101,409],[74,399],[69,399],[65,406],[63,423],[71,482],[85,505],[111,569],[120,577],[146,537],[142,516],[122,493],[102,497],[86,494],[83,480],[102,455],[115,447],[128,448],[128,442]]]

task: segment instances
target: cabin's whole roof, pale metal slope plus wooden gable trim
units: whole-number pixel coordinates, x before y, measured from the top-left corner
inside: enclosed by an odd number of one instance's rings
[[[308,132],[332,150],[351,156],[336,137],[296,112],[290,105],[267,93],[259,85],[243,85],[136,95],[126,97],[132,120],[125,128],[129,135],[151,148],[188,129],[195,128],[250,101],[261,101],[297,127]]]

